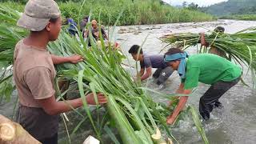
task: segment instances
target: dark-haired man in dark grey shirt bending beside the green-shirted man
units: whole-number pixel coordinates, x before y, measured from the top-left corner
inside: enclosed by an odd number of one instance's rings
[[[129,54],[132,55],[135,61],[140,62],[141,70],[139,72],[139,77],[141,81],[150,78],[152,74],[152,68],[157,68],[153,74],[153,78],[157,80],[156,84],[159,86],[159,90],[164,88],[166,80],[173,74],[173,71],[170,66],[166,65],[164,62],[163,55],[161,54],[143,54],[140,46],[134,45],[130,47]],[[146,73],[145,73],[146,71]]]

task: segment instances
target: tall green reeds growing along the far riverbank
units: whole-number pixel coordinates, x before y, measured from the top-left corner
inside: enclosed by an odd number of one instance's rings
[[[58,1],[58,5],[64,17],[69,15],[78,22],[80,2]],[[1,5],[15,6],[16,10],[23,11],[25,4],[22,1],[20,3],[3,2]],[[205,22],[214,20],[214,17],[210,14],[204,14],[198,12],[198,10],[177,9],[157,0],[86,0],[82,14],[89,15],[90,10],[92,10],[92,18],[99,19],[99,15],[101,15],[100,19],[104,25],[113,25],[122,10],[122,18],[120,18],[118,25]]]

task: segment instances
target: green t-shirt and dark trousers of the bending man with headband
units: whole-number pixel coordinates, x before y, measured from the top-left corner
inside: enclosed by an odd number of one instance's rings
[[[226,58],[215,54],[196,54],[186,61],[186,78],[182,82],[185,90],[198,86],[198,82],[211,85],[199,102],[200,114],[207,120],[214,105],[220,105],[218,99],[239,82],[241,75],[242,69]]]

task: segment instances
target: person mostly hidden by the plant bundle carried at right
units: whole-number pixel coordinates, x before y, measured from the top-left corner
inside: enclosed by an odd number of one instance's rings
[[[215,32],[215,33],[218,33],[218,34],[224,34],[224,31],[225,31],[225,28],[222,27],[222,26],[217,26],[217,27],[214,29],[214,32]],[[201,35],[201,38],[200,38],[201,45],[208,47],[210,44],[209,44],[209,42],[206,42],[205,34],[204,34],[204,33],[201,33],[200,35]],[[216,47],[214,47],[214,46],[210,46],[210,50],[208,51],[208,53],[210,53],[210,54],[216,54],[216,55],[218,55],[218,56],[221,56],[221,57],[223,57],[223,58],[226,58],[225,52],[222,51],[222,50],[219,50],[218,48],[216,48]]]

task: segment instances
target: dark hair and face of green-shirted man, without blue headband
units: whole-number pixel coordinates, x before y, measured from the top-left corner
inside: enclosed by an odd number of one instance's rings
[[[178,48],[171,48],[170,50],[168,50],[165,54],[165,60],[167,55],[173,55],[173,54],[178,54],[178,53],[183,53],[183,51],[181,49]],[[178,70],[178,66],[180,64],[181,60],[180,59],[176,59],[170,62],[166,62],[168,66],[172,67],[173,70]]]

